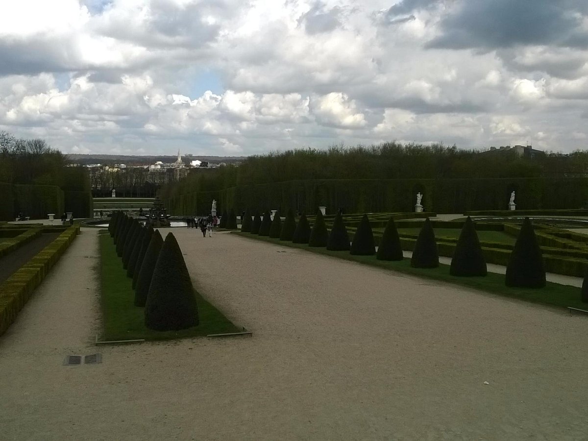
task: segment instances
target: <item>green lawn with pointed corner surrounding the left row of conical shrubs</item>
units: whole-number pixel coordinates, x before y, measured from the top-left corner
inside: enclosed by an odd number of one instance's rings
[[[133,305],[135,293],[132,279],[126,276],[126,270],[122,268],[122,260],[116,255],[111,236],[103,233],[99,235],[99,241],[103,325],[101,340],[169,340],[242,330],[196,291],[200,325],[165,332],[145,328],[143,308]]]

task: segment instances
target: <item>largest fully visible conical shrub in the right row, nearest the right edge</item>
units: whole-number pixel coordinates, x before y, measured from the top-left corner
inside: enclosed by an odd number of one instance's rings
[[[510,253],[509,264],[506,266],[505,283],[506,286],[519,286],[520,288],[543,288],[545,286],[543,255],[529,218],[524,218],[515,248]]]

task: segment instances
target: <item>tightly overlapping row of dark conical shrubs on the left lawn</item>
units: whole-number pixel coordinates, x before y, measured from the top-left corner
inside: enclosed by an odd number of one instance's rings
[[[179,330],[199,323],[198,305],[182,251],[172,233],[141,226],[121,212],[108,226],[126,274],[133,278],[135,306],[145,307],[145,326]]]

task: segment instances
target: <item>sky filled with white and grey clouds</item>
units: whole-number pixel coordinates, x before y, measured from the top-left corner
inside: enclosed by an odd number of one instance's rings
[[[0,2],[0,130],[64,152],[588,147],[585,0]]]

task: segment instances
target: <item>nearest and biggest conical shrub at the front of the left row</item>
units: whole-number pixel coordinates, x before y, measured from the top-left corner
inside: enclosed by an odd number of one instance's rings
[[[166,331],[198,325],[198,306],[186,262],[173,233],[163,242],[145,303],[145,326]]]

